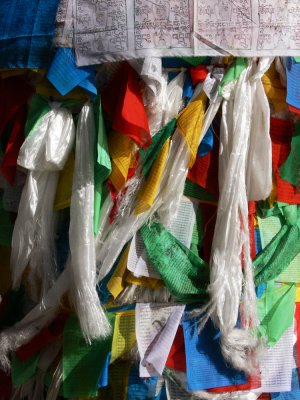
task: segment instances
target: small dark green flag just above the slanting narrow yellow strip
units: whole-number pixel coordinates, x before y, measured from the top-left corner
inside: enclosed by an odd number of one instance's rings
[[[151,170],[151,167],[156,160],[161,148],[165,144],[166,140],[172,135],[176,126],[176,118],[173,118],[167,123],[160,131],[158,131],[153,137],[150,146],[147,149],[139,149],[139,155],[143,163],[143,173],[147,176]]]

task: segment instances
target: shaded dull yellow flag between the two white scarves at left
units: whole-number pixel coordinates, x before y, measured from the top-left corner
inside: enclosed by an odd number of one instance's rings
[[[64,169],[60,172],[54,200],[54,210],[62,210],[70,207],[72,196],[72,183],[74,173],[75,158],[73,152],[65,164]]]

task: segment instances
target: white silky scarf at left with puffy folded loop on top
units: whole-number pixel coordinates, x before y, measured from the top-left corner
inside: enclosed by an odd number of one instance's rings
[[[42,281],[42,293],[53,283],[53,201],[61,170],[71,151],[75,128],[72,114],[52,103],[41,123],[23,143],[18,164],[29,170],[22,192],[13,237],[11,269],[13,288],[18,288],[30,263]],[[37,251],[35,251],[37,250]]]

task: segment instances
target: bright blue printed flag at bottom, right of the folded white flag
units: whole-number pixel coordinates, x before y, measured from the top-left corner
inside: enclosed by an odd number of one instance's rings
[[[189,391],[247,383],[243,372],[226,365],[220,349],[220,332],[209,320],[198,335],[198,320],[183,320]]]

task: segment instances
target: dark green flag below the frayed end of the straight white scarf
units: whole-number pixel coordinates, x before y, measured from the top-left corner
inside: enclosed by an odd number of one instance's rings
[[[114,314],[108,318],[114,326]],[[63,392],[64,397],[94,397],[98,380],[111,351],[112,336],[93,340],[87,344],[79,321],[72,314],[67,320],[63,334]]]

